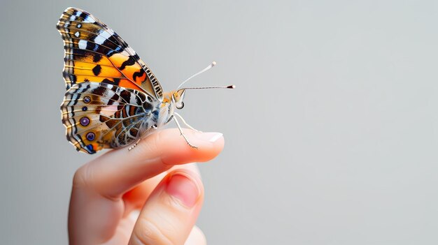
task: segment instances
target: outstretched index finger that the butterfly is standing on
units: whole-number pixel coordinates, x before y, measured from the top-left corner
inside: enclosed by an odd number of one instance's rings
[[[127,148],[108,151],[80,168],[75,183],[92,187],[110,198],[123,193],[142,181],[169,170],[173,165],[204,162],[216,157],[224,146],[222,133],[199,133],[185,129],[185,135],[198,148],[190,147],[177,129],[158,131]]]

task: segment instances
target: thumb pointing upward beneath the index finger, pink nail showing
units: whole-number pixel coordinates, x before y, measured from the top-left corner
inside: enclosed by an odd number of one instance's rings
[[[129,244],[184,244],[203,200],[204,187],[195,172],[169,173],[143,206]]]

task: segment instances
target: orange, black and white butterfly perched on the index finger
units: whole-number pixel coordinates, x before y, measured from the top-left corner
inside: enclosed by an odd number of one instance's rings
[[[176,119],[192,128],[175,112],[184,107],[185,90],[234,88],[231,85],[180,89],[188,81],[185,80],[177,90],[164,93],[139,55],[90,13],[66,8],[56,27],[64,40],[62,75],[67,91],[61,105],[62,123],[67,140],[78,151],[94,154],[101,149],[129,145],[132,149],[141,138],[172,119],[185,141],[195,147]]]

